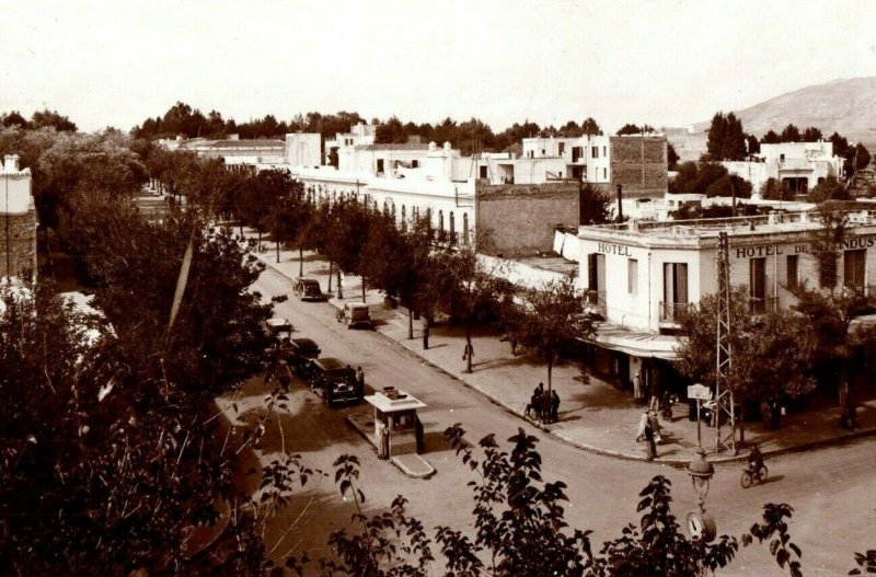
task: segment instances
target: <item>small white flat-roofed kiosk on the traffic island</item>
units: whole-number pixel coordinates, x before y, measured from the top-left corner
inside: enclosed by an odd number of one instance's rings
[[[394,386],[384,386],[365,400],[374,407],[374,445],[381,459],[419,453],[423,430],[417,409],[426,404]]]

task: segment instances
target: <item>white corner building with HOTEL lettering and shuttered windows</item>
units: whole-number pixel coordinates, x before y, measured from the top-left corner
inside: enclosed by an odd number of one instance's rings
[[[679,312],[717,291],[718,233],[729,236],[730,282],[748,287],[758,313],[792,305],[787,287],[804,279],[818,286],[809,245],[820,227],[814,212],[581,227],[580,286],[587,308],[606,320],[589,351],[591,368],[623,386],[639,371],[646,382],[669,384]],[[873,293],[872,214],[852,216],[841,251],[840,284]]]

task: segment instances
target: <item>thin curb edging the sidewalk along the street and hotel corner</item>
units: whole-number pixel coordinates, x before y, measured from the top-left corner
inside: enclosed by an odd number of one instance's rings
[[[279,274],[279,275],[281,275],[281,276],[284,276],[286,278],[290,278],[285,273],[283,273],[279,268],[273,266],[276,263],[267,262],[267,259],[262,259],[262,258],[260,258],[260,261],[262,261],[265,265],[267,265],[270,268],[273,268],[277,274]],[[327,297],[326,298],[326,302],[328,302],[335,309],[339,310],[339,309],[343,308],[343,304],[341,307],[338,307],[339,301],[334,296]],[[341,302],[343,302],[343,301],[341,301]],[[603,457],[611,457],[611,458],[614,458],[614,459],[623,459],[623,460],[626,460],[626,461],[650,462],[650,463],[654,463],[654,464],[667,465],[667,466],[672,466],[672,468],[677,468],[677,469],[683,469],[690,463],[690,460],[660,459],[659,457],[654,459],[654,460],[652,460],[652,461],[648,461],[647,458],[645,458],[643,455],[639,455],[639,454],[624,453],[624,452],[621,452],[621,451],[614,451],[614,450],[611,450],[611,449],[603,449],[603,448],[600,448],[600,447],[595,447],[595,446],[587,445],[587,443],[577,441],[575,439],[572,439],[572,438],[563,435],[560,431],[555,432],[555,431],[551,430],[550,428],[548,428],[548,427],[545,427],[543,425],[539,425],[539,424],[535,424],[535,423],[529,420],[527,417],[525,417],[522,414],[518,413],[510,405],[506,404],[502,400],[493,396],[492,394],[489,394],[489,393],[487,393],[485,391],[482,391],[477,386],[475,386],[475,385],[471,384],[470,382],[468,382],[461,374],[459,374],[457,372],[453,372],[453,371],[450,371],[450,370],[441,367],[440,365],[437,365],[431,359],[420,355],[416,349],[406,347],[404,344],[402,344],[401,341],[397,341],[397,339],[392,338],[391,336],[387,335],[383,331],[381,331],[380,326],[373,327],[372,331],[374,333],[380,333],[380,335],[383,336],[383,338],[385,338],[388,342],[393,343],[395,346],[400,347],[401,349],[403,349],[403,350],[407,351],[408,354],[413,355],[414,357],[418,358],[420,361],[427,363],[429,367],[431,367],[431,368],[438,370],[439,372],[446,374],[447,377],[450,377],[451,379],[462,383],[463,385],[465,385],[466,388],[471,389],[472,391],[475,391],[476,393],[481,394],[485,399],[489,400],[493,404],[503,407],[506,412],[508,412],[511,415],[514,415],[514,416],[520,418],[521,420],[526,422],[528,425],[531,425],[532,427],[541,429],[544,432],[553,436],[554,438],[556,438],[556,439],[558,439],[558,440],[561,440],[561,441],[563,441],[565,443],[570,445],[572,447],[576,447],[578,449],[581,449],[584,451],[588,451],[588,452],[591,452],[591,453],[595,453],[595,454],[601,454]],[[763,457],[780,457],[780,455],[783,455],[783,454],[797,453],[797,452],[803,452],[803,451],[807,451],[807,450],[810,450],[810,449],[818,449],[818,448],[828,447],[828,446],[842,445],[844,442],[849,442],[849,441],[852,441],[852,440],[855,440],[855,439],[860,439],[860,438],[864,438],[864,437],[873,437],[873,436],[876,436],[876,427],[868,428],[868,429],[858,429],[858,430],[855,430],[855,431],[852,431],[852,432],[845,432],[845,434],[842,434],[842,435],[839,435],[839,436],[835,436],[835,437],[817,439],[817,440],[812,440],[812,441],[803,442],[803,443],[799,443],[799,445],[782,447],[782,448],[773,449],[773,450],[769,450],[769,451],[762,451],[762,454],[763,454]],[[714,463],[714,464],[728,464],[728,463],[735,463],[735,462],[745,461],[747,458],[748,458],[747,454],[741,454],[741,453],[740,454],[735,454],[735,455],[725,455],[725,457],[710,455],[708,461],[711,463]]]

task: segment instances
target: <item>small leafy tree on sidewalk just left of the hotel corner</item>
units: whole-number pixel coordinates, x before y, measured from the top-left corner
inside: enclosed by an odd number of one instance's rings
[[[548,365],[548,393],[552,390],[551,376],[560,353],[576,338],[593,334],[590,318],[584,314],[584,300],[572,278],[551,281],[541,289],[527,292],[518,307],[512,338],[534,350]]]

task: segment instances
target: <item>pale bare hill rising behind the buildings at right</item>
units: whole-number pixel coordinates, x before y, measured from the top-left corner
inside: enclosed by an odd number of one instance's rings
[[[781,132],[788,124],[800,131],[815,126],[825,136],[835,130],[849,140],[863,142],[871,152],[876,151],[876,77],[806,86],[733,113],[742,120],[746,132],[757,137],[771,129]],[[705,131],[711,123],[708,118],[694,124],[693,132],[664,129],[682,161],[696,160],[705,152]]]

